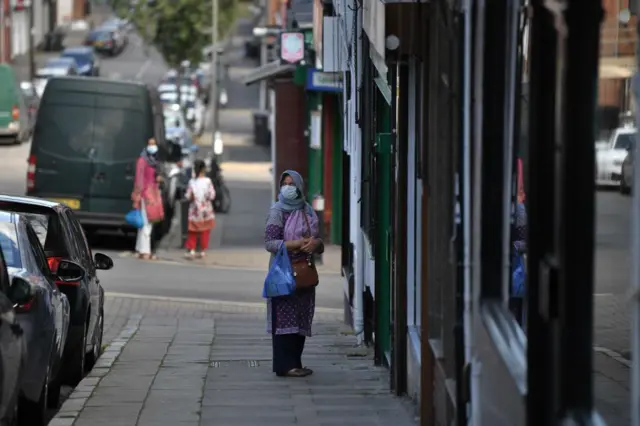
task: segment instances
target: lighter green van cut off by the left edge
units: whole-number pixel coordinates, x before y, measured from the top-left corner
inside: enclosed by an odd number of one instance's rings
[[[29,113],[17,83],[16,75],[8,64],[0,64],[0,138],[12,143],[29,139]]]

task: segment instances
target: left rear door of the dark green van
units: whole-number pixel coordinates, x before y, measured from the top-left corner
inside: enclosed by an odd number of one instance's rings
[[[94,153],[94,101],[87,93],[48,91],[40,102],[31,145],[35,187],[30,195],[58,198],[73,208],[88,208]]]

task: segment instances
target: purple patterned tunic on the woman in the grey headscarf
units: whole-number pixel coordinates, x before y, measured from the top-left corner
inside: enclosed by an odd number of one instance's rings
[[[285,240],[302,239],[304,229],[290,226],[289,220],[294,213],[283,212],[277,209],[271,209],[267,218],[267,226],[265,229],[265,248],[267,251],[276,253]],[[311,234],[314,238],[319,237],[318,218],[313,210],[307,212],[309,223],[311,224]],[[285,232],[286,229],[286,232]],[[286,238],[288,237],[288,238]],[[321,248],[322,251],[322,248]],[[305,256],[304,253],[291,253],[289,258],[295,260]],[[305,292],[296,293],[287,297],[278,297],[276,299],[267,300],[267,332],[269,334],[299,334],[302,336],[311,336],[311,324],[316,306],[315,289]],[[272,309],[275,308],[275,316],[272,315]],[[276,324],[272,324],[272,318],[276,318]],[[275,327],[275,333],[273,333]]]

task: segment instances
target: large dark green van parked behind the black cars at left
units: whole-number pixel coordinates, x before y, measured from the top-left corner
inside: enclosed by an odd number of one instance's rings
[[[152,88],[103,78],[53,79],[40,101],[27,195],[71,207],[86,232],[133,231],[125,215],[136,161],[152,137],[162,161],[164,117]]]

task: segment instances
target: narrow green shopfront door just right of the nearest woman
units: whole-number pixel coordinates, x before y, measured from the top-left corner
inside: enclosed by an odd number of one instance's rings
[[[391,108],[376,91],[376,344],[391,364]]]

